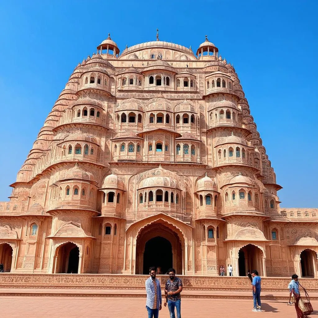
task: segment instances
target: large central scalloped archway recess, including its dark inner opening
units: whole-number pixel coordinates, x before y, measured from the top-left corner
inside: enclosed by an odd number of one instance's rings
[[[149,267],[161,267],[165,274],[170,267],[182,274],[182,234],[172,225],[156,222],[145,226],[136,241],[136,274],[149,274]],[[181,238],[180,238],[181,236]]]

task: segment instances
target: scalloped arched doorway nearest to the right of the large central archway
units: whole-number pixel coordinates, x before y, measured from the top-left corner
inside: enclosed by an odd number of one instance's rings
[[[239,276],[246,276],[247,270],[254,269],[263,275],[263,252],[259,247],[247,244],[239,250]]]

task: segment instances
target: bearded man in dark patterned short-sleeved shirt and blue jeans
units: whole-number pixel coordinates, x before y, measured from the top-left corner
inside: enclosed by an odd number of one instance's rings
[[[166,282],[164,293],[166,295],[164,299],[164,306],[167,306],[170,313],[170,318],[176,318],[175,307],[177,310],[177,318],[181,318],[181,295],[182,292],[182,280],[176,277],[176,270],[173,268],[168,269],[169,279]]]

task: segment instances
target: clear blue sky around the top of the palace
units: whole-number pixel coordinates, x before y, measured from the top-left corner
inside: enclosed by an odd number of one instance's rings
[[[207,34],[239,75],[282,207],[318,207],[318,1],[2,1],[0,201],[78,64],[111,33],[123,51]]]

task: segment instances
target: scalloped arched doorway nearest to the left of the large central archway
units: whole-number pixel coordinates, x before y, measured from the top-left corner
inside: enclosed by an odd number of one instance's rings
[[[74,243],[68,242],[56,249],[55,273],[79,272],[79,248]]]

